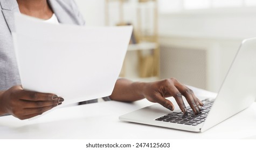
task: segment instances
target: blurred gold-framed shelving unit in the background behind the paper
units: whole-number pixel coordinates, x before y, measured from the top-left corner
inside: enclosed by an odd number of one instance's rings
[[[112,3],[115,5],[110,7]],[[119,14],[115,18],[110,13],[113,10]],[[134,26],[128,53],[129,51],[137,51],[140,78],[158,78],[160,76],[157,12],[156,0],[105,0],[105,24],[107,26],[128,24]],[[129,17],[130,19],[128,19]],[[126,59],[129,58],[126,57]],[[126,77],[124,68],[120,76]]]

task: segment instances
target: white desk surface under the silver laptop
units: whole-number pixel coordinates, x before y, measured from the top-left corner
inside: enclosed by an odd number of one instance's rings
[[[141,100],[72,106],[32,121],[0,117],[0,139],[256,139],[256,103],[204,133],[119,121],[120,115],[150,104]]]

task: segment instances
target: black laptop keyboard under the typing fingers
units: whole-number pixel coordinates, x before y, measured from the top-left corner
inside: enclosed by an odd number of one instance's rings
[[[208,112],[211,109],[213,100],[205,99],[202,101],[204,106],[201,107],[201,111],[199,114],[195,114],[193,110],[189,107],[187,108],[188,114],[184,115],[183,112],[171,112],[170,114],[164,115],[155,119],[156,121],[170,122],[170,123],[178,123],[178,124],[186,124],[186,125],[198,125],[205,121],[205,118],[208,115]]]

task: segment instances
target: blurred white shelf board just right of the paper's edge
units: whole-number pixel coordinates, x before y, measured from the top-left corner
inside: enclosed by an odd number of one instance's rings
[[[128,51],[135,51],[135,50],[151,50],[156,49],[157,43],[154,42],[141,42],[137,44],[129,44]]]

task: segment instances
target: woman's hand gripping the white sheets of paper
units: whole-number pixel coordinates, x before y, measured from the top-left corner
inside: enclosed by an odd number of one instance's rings
[[[11,114],[22,120],[28,119],[43,114],[63,101],[55,94],[25,91],[22,86],[13,86],[0,92],[0,115]]]

